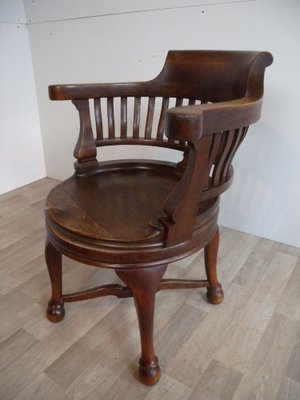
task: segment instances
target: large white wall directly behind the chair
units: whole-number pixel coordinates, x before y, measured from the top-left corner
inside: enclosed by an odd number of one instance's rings
[[[48,175],[72,172],[78,132],[74,107],[50,102],[49,84],[150,79],[168,49],[268,50],[263,117],[235,159],[220,223],[300,246],[300,2],[57,2],[24,0]]]

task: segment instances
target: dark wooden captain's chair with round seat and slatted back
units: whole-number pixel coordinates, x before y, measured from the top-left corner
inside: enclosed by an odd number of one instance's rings
[[[156,292],[206,287],[210,303],[223,300],[216,273],[219,197],[232,182],[232,158],[248,126],[260,117],[271,63],[267,52],[170,51],[149,82],[49,87],[50,99],[75,105],[80,132],[75,174],[46,202],[47,317],[61,321],[65,302],[133,296],[146,385],[160,378],[153,348]],[[122,144],[175,149],[183,159],[98,162],[97,147]],[[168,264],[202,248],[207,279],[163,279]],[[65,294],[62,255],[112,268],[126,286]]]

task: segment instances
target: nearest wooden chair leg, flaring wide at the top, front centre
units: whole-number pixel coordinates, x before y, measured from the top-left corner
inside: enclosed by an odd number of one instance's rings
[[[157,286],[166,268],[167,265],[116,270],[134,296],[142,350],[139,375],[145,385],[154,385],[160,379],[160,367],[153,347],[154,306]]]

